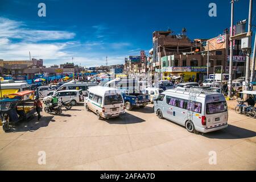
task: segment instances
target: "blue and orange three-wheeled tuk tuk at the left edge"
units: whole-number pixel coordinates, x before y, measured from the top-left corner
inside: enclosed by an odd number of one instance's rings
[[[0,100],[0,118],[3,131],[10,129],[10,123],[15,125],[20,121],[27,121],[28,118],[34,117],[35,113],[34,91],[26,90],[8,94],[3,100]]]

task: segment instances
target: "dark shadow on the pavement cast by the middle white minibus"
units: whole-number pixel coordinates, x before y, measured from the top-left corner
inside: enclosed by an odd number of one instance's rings
[[[144,122],[145,120],[138,118],[133,114],[125,113],[121,117],[105,119],[105,121],[108,122],[109,124],[127,125],[127,124],[133,124],[133,123],[141,123],[141,122]]]

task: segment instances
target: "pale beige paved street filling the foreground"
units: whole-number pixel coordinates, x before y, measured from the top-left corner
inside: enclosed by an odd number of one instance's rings
[[[10,133],[0,131],[1,170],[255,170],[256,119],[229,111],[229,127],[191,134],[159,119],[152,105],[99,121],[84,106],[43,113]],[[38,164],[38,152],[46,164]],[[209,164],[209,152],[217,164]]]

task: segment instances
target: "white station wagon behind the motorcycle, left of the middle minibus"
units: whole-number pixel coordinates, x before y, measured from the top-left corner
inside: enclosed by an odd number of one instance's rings
[[[45,103],[47,100],[51,100],[53,97],[57,97],[64,102],[71,100],[72,105],[76,105],[77,103],[84,101],[82,90],[61,90],[52,96],[44,97],[43,102]]]

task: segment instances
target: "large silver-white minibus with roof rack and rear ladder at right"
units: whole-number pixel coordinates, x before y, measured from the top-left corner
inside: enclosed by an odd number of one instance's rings
[[[154,100],[154,111],[159,118],[179,123],[191,133],[228,127],[225,97],[209,88],[166,90]]]

